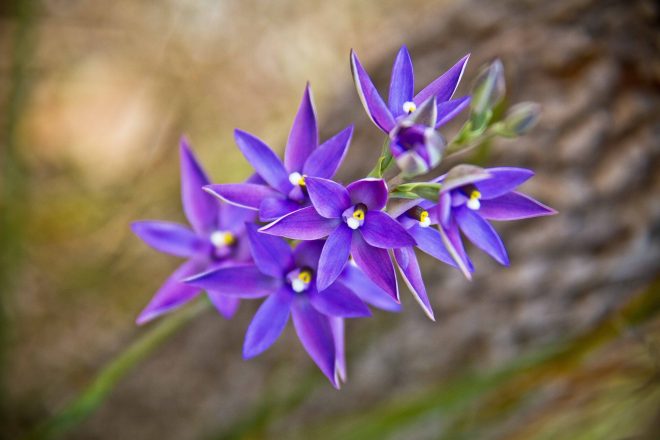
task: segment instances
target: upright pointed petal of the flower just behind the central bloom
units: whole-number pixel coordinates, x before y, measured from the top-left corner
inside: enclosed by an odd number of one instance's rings
[[[312,91],[307,84],[298,113],[291,126],[284,151],[284,166],[289,172],[302,171],[305,161],[319,144]]]

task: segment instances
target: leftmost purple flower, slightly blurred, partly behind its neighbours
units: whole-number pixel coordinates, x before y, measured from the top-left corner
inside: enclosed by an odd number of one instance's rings
[[[243,236],[245,222],[255,217],[254,212],[219,204],[202,191],[209,181],[185,139],[181,139],[180,156],[183,210],[192,229],[178,223],[150,220],[134,222],[131,229],[154,249],[188,260],[156,292],[138,316],[138,324],[181,307],[200,293],[198,288],[181,283],[183,278],[250,260]],[[208,290],[207,294],[223,316],[234,315],[238,307],[236,298],[216,290]]]

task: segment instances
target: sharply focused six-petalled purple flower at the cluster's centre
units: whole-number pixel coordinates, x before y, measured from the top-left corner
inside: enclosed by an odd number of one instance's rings
[[[342,273],[349,254],[364,273],[396,301],[394,266],[388,249],[415,244],[403,227],[382,211],[387,185],[362,179],[344,188],[328,179],[307,179],[312,206],[294,211],[261,228],[262,232],[297,240],[328,237],[321,252],[317,288],[327,289]]]

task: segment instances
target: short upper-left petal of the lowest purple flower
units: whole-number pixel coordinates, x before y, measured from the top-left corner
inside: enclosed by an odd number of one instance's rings
[[[291,247],[284,239],[259,232],[257,228],[253,223],[246,225],[254,264],[261,273],[283,278],[293,267]]]

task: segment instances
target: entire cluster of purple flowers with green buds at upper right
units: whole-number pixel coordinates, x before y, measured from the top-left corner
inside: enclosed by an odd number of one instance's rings
[[[459,269],[474,266],[463,237],[508,265],[489,220],[553,214],[516,191],[533,172],[462,164],[437,178],[414,182],[443,156],[494,135],[517,136],[538,117],[523,103],[501,114],[499,62],[479,75],[472,96],[453,98],[468,56],[414,94],[408,50],[399,51],[385,104],[357,55],[351,70],[374,124],[387,135],[378,163],[346,186],[332,180],[348,150],[353,127],[321,142],[309,85],[293,121],[284,159],[256,136],[235,140],[255,173],[243,183],[212,184],[183,139],[180,147],[183,210],[190,226],[139,221],[132,229],[161,252],[187,259],[154,295],[138,324],[168,313],[206,292],[231,318],[241,299],[265,298],[247,329],[243,356],[270,347],[292,318],[305,350],[333,386],[346,380],[344,319],[370,316],[368,306],[400,310],[396,267],[429,318],[415,248]],[[466,108],[470,116],[447,142],[438,131]],[[396,164],[399,174],[385,180]]]

